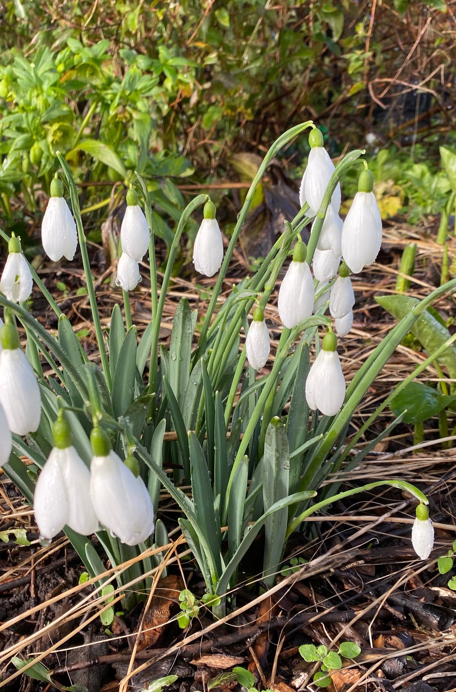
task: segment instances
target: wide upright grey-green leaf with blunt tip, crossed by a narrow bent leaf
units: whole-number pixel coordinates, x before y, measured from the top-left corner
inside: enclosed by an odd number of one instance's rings
[[[281,419],[275,416],[267,426],[263,456],[263,504],[265,510],[288,495],[289,450],[287,432]],[[231,495],[231,493],[230,493]],[[265,522],[265,556],[263,580],[274,585],[278,565],[285,549],[288,512],[274,512]]]

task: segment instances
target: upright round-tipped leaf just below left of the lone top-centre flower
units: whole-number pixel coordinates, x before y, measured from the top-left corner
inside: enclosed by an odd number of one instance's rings
[[[181,298],[173,320],[168,366],[169,384],[180,406],[189,381],[192,336],[189,301]]]

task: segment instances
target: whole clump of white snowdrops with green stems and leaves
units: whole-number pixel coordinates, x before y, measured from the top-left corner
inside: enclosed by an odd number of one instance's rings
[[[281,237],[258,271],[246,276],[222,302],[220,293],[256,185],[272,157],[306,128],[310,156],[301,183],[301,210],[285,221]],[[205,579],[212,610],[225,612],[238,567],[261,529],[265,529],[263,581],[272,585],[281,570],[287,538],[305,531],[307,516],[324,511],[338,498],[389,484],[417,498],[412,543],[426,559],[433,547],[433,527],[426,497],[401,480],[376,482],[339,493],[342,477],[401,420],[397,418],[357,455],[350,450],[381,410],[429,362],[390,394],[350,444],[344,441],[350,418],[372,381],[410,330],[440,295],[456,289],[448,282],[421,301],[370,354],[345,387],[337,353],[338,338],[353,322],[351,273],[372,264],[381,245],[381,218],[372,193],[372,173],[351,152],[334,168],[323,137],[312,122],[285,132],[269,149],[251,183],[238,224],[224,256],[216,208],[206,194],[182,212],[169,251],[160,294],[157,290],[153,215],[147,183],[137,175],[127,192],[122,222],[117,285],[124,313],[115,305],[103,331],[97,309],[77,188],[59,155],[63,176],[56,174],[42,224],[42,243],[51,260],[73,260],[82,253],[99,365],[89,362],[66,316],[21,252],[9,239],[9,255],[0,281],[0,462],[4,471],[33,502],[41,538],[50,542],[62,529],[91,576],[104,565],[91,543],[96,534],[113,566],[142,556],[117,576],[125,607],[151,585],[156,556],[149,548],[167,543],[167,529],[154,517],[160,486],[170,493],[182,516],[180,528]],[[340,178],[359,168],[359,192],[343,222]],[[64,198],[64,185],[70,206]],[[142,206],[144,207],[144,211]],[[193,249],[196,271],[218,273],[209,307],[194,342],[196,311],[182,298],[173,321],[169,351],[159,345],[160,320],[182,230],[190,215],[203,208],[204,219]],[[301,230],[312,222],[306,247]],[[140,340],[131,321],[129,291],[140,281],[138,263],[149,253],[151,321]],[[289,259],[290,258],[290,259]],[[283,322],[274,361],[258,376],[270,355],[265,309],[279,272],[287,266],[278,293]],[[312,275],[313,269],[313,275]],[[28,313],[32,282],[59,318],[53,336]],[[329,307],[330,316],[325,313]],[[253,312],[249,324],[249,313]],[[334,320],[334,321],[333,321]],[[23,325],[23,352],[16,323]],[[245,344],[240,345],[240,336]],[[310,346],[315,358],[311,365]],[[44,374],[42,361],[52,374]],[[149,367],[147,367],[149,366]],[[147,370],[149,371],[147,374]],[[164,432],[174,439],[164,442]],[[37,480],[19,459],[37,467]],[[171,472],[164,471],[168,464]],[[30,471],[30,468],[29,468]],[[321,483],[332,473],[332,483]],[[35,474],[36,476],[36,474]],[[191,496],[180,489],[191,485]],[[312,500],[319,492],[319,498]],[[166,573],[166,570],[165,572]],[[135,588],[131,588],[131,584]],[[228,594],[228,595],[227,595]]]

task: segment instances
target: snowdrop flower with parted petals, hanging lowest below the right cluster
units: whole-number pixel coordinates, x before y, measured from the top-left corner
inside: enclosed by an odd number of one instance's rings
[[[337,337],[328,331],[305,382],[305,399],[309,408],[318,408],[325,416],[336,415],[345,399],[345,380],[336,347]]]

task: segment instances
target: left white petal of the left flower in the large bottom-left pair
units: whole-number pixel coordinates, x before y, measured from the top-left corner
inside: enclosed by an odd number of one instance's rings
[[[38,476],[33,509],[39,533],[54,538],[68,522],[68,493],[59,464],[59,450],[54,448]]]

